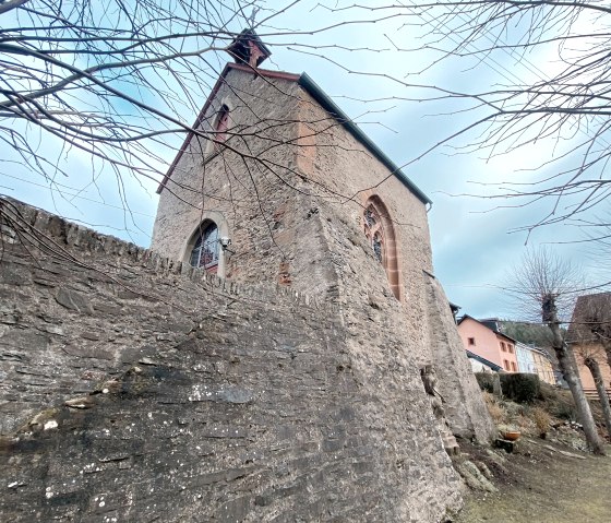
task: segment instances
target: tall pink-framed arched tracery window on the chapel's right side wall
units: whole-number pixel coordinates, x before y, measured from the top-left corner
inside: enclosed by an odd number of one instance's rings
[[[380,197],[371,197],[363,212],[363,228],[373,255],[382,264],[395,298],[400,300],[402,288],[395,230],[386,206]]]

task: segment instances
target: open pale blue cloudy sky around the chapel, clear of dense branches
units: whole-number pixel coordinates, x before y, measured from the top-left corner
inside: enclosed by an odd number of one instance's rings
[[[337,2],[338,5],[340,3]],[[374,3],[368,2],[368,5]],[[265,5],[278,9],[286,4],[271,1]],[[271,12],[262,10],[256,13],[256,20],[265,19]],[[482,91],[508,82],[528,82],[554,71],[558,67],[554,49],[543,49],[522,60],[516,60],[508,52],[484,60],[471,56],[456,57],[430,68],[439,58],[438,54],[396,50],[421,45],[421,38],[430,33],[430,24],[434,22],[428,15],[409,21],[395,17],[376,24],[343,24],[313,35],[300,35],[296,31],[324,27],[346,20],[371,20],[371,16],[382,14],[368,11],[334,14],[316,7],[314,1],[298,2],[260,29],[260,33],[274,33],[274,27],[279,27],[281,31],[278,32],[285,33],[266,38],[273,56],[265,67],[307,72],[397,165],[407,165],[404,171],[433,201],[429,221],[434,271],[450,300],[460,306],[463,313],[477,318],[526,319],[519,317],[519,307],[516,308],[502,287],[508,269],[519,262],[527,246],[542,243],[552,243],[560,255],[583,264],[591,283],[603,281],[600,261],[592,260],[588,249],[582,243],[563,243],[582,238],[576,227],[558,224],[536,229],[530,235],[512,233],[520,226],[536,223],[550,211],[551,201],[519,207],[515,206],[514,200],[490,198],[503,192],[500,189],[502,182],[528,182],[553,174],[558,166],[534,168],[552,155],[561,155],[570,142],[559,144],[542,140],[492,157],[488,157],[486,151],[466,153],[441,146],[412,162],[435,143],[468,126],[481,112],[477,109],[464,112],[467,105],[456,100],[405,99],[429,97],[434,92],[406,87],[404,83],[453,91]],[[406,25],[406,22],[414,24]],[[286,28],[290,29],[289,36]],[[334,45],[369,50],[345,51],[321,47]],[[215,59],[220,68],[225,57]],[[357,74],[357,71],[368,74]],[[196,95],[201,105],[206,96],[206,92]],[[191,123],[195,114],[180,116]],[[57,155],[57,143],[36,130],[27,132],[31,142],[39,150]],[[476,136],[475,133],[467,134],[453,144],[459,146]],[[48,180],[33,177],[23,165],[11,162],[16,158],[11,156],[10,151],[2,156],[1,193],[148,246],[157,205],[155,180],[128,176],[119,185],[107,167],[96,165],[94,169],[91,157],[70,150],[60,155],[70,177],[57,176],[51,183],[53,190],[49,190]],[[161,170],[165,169],[164,162],[169,165],[171,161],[172,155],[166,153],[160,162]],[[94,171],[95,176],[92,176]],[[129,213],[124,211],[125,202]]]

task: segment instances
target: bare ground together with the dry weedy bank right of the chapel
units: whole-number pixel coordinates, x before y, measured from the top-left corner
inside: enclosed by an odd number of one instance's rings
[[[597,518],[611,510],[603,488],[611,459],[587,450],[571,394],[546,383],[529,404],[482,394],[500,436],[520,436],[512,453],[460,442],[462,454],[454,463],[469,488],[465,509],[448,521],[607,521]],[[600,405],[591,402],[591,408],[604,438]]]

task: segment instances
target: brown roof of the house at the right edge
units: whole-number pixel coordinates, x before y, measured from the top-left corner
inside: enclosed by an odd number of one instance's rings
[[[611,322],[611,293],[597,293],[579,296],[573,309],[573,317],[566,333],[568,343],[592,343],[599,338],[592,332],[597,322],[607,325]]]

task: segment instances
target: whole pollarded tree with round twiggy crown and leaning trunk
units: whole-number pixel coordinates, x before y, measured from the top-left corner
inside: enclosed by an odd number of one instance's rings
[[[548,249],[527,252],[519,266],[511,275],[510,290],[524,306],[532,306],[541,322],[548,325],[552,334],[552,348],[558,358],[575,406],[579,423],[584,427],[588,447],[595,454],[604,454],[602,441],[598,436],[596,424],[579,373],[575,367],[575,357],[567,345],[561,325],[567,318],[575,292],[579,288],[578,271],[571,263],[554,255]],[[524,309],[523,309],[524,310]]]

